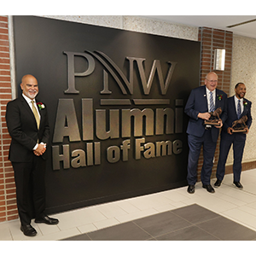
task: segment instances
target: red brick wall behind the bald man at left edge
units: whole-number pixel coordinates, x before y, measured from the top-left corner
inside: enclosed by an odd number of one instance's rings
[[[10,137],[5,122],[6,104],[12,99],[8,16],[0,16],[0,222],[18,218],[13,168],[8,160]]]

